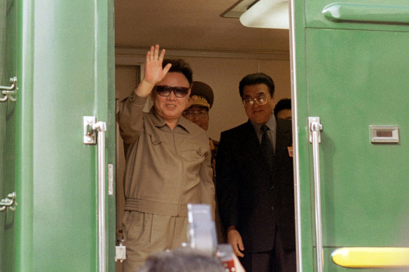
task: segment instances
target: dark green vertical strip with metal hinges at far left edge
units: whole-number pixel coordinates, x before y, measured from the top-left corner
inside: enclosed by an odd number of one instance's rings
[[[0,271],[14,271],[17,1],[0,13]]]

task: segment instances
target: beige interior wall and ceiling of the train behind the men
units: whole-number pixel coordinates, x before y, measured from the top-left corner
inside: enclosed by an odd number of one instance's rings
[[[221,131],[247,120],[238,93],[243,76],[267,73],[275,80],[275,102],[291,98],[289,30],[244,27],[239,17],[254,2],[116,0],[116,101],[128,96],[141,80],[146,52],[155,44],[167,50],[165,57],[185,59],[193,69],[193,80],[212,87],[208,134],[216,141]],[[120,232],[125,157],[118,126],[116,145]]]

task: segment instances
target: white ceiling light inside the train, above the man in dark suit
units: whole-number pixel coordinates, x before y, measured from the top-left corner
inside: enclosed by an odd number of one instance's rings
[[[245,27],[289,29],[288,0],[260,0],[240,16]]]

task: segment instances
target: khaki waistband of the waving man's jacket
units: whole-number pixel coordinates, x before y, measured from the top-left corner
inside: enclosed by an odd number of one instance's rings
[[[164,203],[145,199],[126,199],[125,210],[151,213],[153,215],[188,216],[188,206],[186,204]]]

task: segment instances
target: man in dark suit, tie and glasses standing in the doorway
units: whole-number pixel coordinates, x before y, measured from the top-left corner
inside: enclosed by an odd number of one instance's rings
[[[272,114],[274,89],[264,73],[240,81],[249,120],[221,133],[216,157],[221,220],[247,272],[296,271],[291,122]]]

